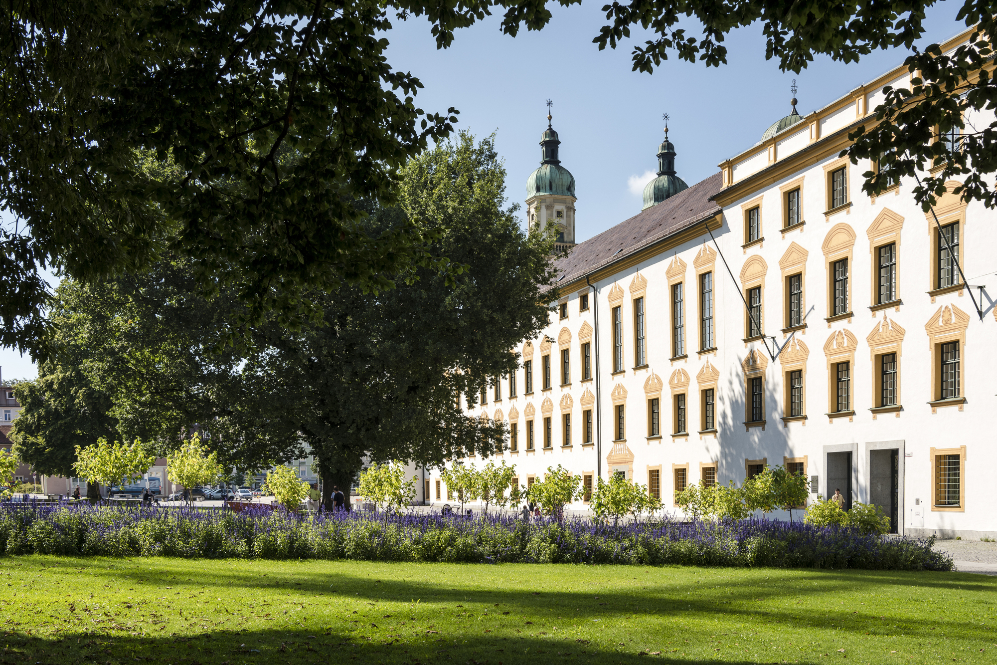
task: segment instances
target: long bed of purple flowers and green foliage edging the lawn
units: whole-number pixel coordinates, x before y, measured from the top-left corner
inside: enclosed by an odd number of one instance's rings
[[[951,570],[916,540],[759,519],[600,523],[508,516],[319,512],[269,506],[0,506],[0,553],[468,563],[622,563]]]

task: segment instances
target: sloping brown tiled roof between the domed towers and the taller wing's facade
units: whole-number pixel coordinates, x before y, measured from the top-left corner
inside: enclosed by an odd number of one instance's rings
[[[554,262],[557,272],[563,276],[558,284],[583,278],[599,268],[713,217],[720,212],[721,207],[710,201],[710,197],[722,189],[721,176],[722,174],[716,173],[657,206],[634,215],[626,222],[579,243],[571,250],[571,254]]]

